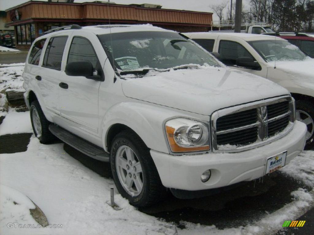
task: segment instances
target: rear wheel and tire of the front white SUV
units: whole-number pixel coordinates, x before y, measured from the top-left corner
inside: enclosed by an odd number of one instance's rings
[[[42,144],[49,144],[55,139],[49,130],[50,122],[46,119],[37,100],[30,105],[30,121],[35,136]]]

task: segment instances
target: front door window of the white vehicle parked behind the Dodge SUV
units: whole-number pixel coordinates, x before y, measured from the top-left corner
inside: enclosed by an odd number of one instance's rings
[[[221,61],[226,65],[236,65],[236,60],[239,57],[254,57],[239,43],[231,41],[220,41],[219,54]]]

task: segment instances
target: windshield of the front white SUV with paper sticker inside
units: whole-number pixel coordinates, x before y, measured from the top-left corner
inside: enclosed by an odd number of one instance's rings
[[[99,35],[106,53],[123,71],[168,69],[181,65],[219,63],[204,49],[174,32],[126,32]],[[112,43],[111,43],[112,40]]]

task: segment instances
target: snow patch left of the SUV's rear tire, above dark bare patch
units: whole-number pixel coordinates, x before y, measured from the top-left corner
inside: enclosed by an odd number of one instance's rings
[[[0,135],[15,133],[32,133],[32,124],[30,123],[30,112],[15,112],[10,109],[0,127]]]

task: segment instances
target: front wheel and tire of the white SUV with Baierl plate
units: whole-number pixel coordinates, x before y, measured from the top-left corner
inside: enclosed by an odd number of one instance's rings
[[[165,188],[149,149],[137,134],[123,131],[116,135],[110,162],[116,187],[130,204],[145,207],[162,198]]]

